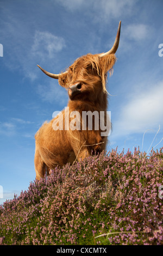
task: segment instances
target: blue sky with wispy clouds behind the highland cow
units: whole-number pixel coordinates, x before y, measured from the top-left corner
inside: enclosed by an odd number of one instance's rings
[[[107,87],[113,95],[107,149],[147,151],[161,141],[162,10],[162,0],[1,0],[0,203],[28,190],[35,179],[34,135],[68,102],[66,90],[36,65],[59,73],[83,54],[110,50],[120,20],[117,62]],[[155,149],[162,146],[163,140]]]

